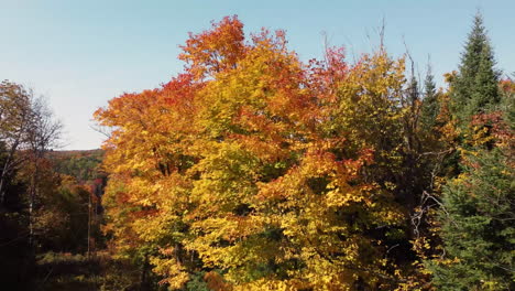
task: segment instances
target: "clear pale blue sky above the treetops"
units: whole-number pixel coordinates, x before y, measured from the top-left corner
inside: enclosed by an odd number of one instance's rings
[[[321,55],[326,32],[352,60],[371,51],[384,18],[388,51],[403,54],[405,42],[420,74],[430,54],[441,84],[441,74],[457,68],[476,8],[498,68],[515,72],[513,0],[0,0],[0,79],[47,96],[65,125],[65,149],[94,149],[103,137],[90,129],[92,112],[178,73],[178,45],[211,20],[238,14],[246,33],[284,29],[302,60]]]

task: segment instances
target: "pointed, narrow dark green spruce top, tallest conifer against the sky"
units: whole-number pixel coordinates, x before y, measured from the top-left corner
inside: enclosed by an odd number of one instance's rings
[[[483,18],[478,12],[461,55],[458,76],[452,84],[452,111],[461,126],[467,125],[471,116],[484,112],[500,103],[500,73],[494,66],[493,50]]]

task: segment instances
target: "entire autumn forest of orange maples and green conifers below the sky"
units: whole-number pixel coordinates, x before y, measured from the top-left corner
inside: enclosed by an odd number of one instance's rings
[[[0,288],[515,290],[515,73],[485,26],[440,86],[382,40],[305,62],[226,17],[99,105],[91,151],[2,82]]]

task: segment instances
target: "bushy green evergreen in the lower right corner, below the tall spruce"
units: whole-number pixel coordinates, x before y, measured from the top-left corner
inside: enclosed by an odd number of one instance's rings
[[[480,153],[443,193],[446,259],[430,266],[441,290],[515,289],[513,155]]]

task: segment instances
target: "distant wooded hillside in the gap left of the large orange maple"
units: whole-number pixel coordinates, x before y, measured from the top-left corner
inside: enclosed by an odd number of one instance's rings
[[[48,155],[54,162],[56,172],[74,176],[78,182],[85,183],[102,175],[99,166],[103,159],[103,151],[100,149],[52,151]]]

